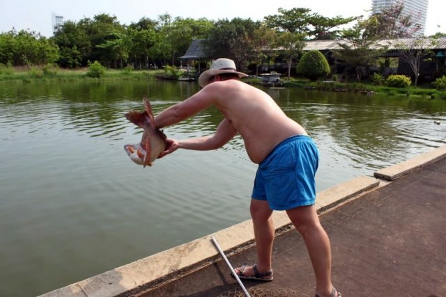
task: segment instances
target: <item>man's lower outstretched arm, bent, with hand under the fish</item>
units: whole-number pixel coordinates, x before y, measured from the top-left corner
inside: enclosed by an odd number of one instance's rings
[[[159,158],[170,154],[171,152],[175,152],[179,148],[185,150],[215,150],[225,145],[234,136],[236,136],[236,134],[237,130],[233,127],[233,125],[231,125],[231,122],[224,119],[222,122],[220,122],[220,125],[217,127],[217,131],[215,131],[215,134],[213,135],[180,141],[168,139],[167,142],[169,145],[164,152],[161,152]]]

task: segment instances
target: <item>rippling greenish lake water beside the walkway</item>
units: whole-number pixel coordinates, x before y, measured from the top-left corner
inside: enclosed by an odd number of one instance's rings
[[[142,110],[143,97],[156,114],[198,90],[177,81],[0,84],[0,296],[43,294],[249,219],[256,165],[240,136],[145,169],[123,150],[141,138],[123,115]],[[317,191],[446,144],[444,99],[264,90],[316,141]],[[221,120],[211,108],[164,132],[203,136]]]

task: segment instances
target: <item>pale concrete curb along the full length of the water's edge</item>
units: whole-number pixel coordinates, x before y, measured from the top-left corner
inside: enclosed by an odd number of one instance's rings
[[[446,145],[396,166],[379,170],[375,172],[374,176],[392,181],[445,156]],[[398,172],[398,170],[400,171]],[[327,211],[346,200],[359,197],[363,193],[379,186],[383,186],[383,183],[380,183],[378,179],[373,177],[355,177],[347,182],[319,192],[316,199],[316,209],[319,213]],[[275,211],[272,214],[272,218],[276,232],[291,225],[291,221],[286,216],[285,211]],[[50,291],[41,296],[132,296],[142,291],[154,289],[220,260],[221,256],[213,245],[211,236],[215,236],[226,255],[231,255],[249,247],[254,242],[252,221],[246,220],[224,230],[114,268],[92,278]]]

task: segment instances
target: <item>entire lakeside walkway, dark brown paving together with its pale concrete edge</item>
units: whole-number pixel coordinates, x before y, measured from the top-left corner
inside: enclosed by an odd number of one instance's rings
[[[380,170],[379,179],[318,193],[333,284],[343,296],[446,296],[445,156],[446,146]],[[275,279],[244,280],[245,287],[252,296],[314,296],[305,243],[283,211],[274,216]],[[255,263],[250,220],[213,236],[233,266]],[[244,296],[229,273],[205,236],[45,296]]]

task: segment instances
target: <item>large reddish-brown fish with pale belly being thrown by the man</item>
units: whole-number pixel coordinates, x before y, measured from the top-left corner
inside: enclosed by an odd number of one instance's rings
[[[134,163],[145,168],[146,166],[152,166],[153,161],[165,150],[167,147],[167,136],[155,125],[151,102],[147,98],[144,98],[143,102],[144,111],[129,111],[125,113],[125,118],[134,125],[144,129],[141,142],[133,145],[124,145],[124,150]]]

